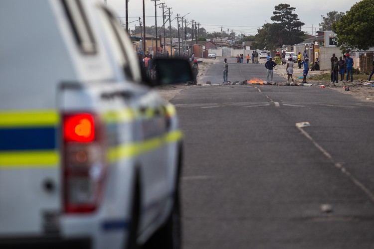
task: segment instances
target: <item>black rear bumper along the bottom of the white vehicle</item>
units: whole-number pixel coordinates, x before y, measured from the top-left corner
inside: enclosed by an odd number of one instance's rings
[[[91,249],[90,238],[0,237],[1,249]]]

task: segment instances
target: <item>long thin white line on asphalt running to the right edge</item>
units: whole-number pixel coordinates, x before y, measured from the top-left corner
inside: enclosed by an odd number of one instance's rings
[[[369,199],[374,203],[374,194],[372,192],[370,192],[370,190],[365,187],[365,185],[360,182],[359,180],[357,180],[346,168],[343,167],[343,165],[339,162],[335,162],[333,156],[327,152],[321,145],[319,145],[314,139],[313,137],[311,137],[309,135],[308,132],[306,132],[303,128],[300,128],[300,127],[297,127],[301,133],[303,133],[303,135],[305,137],[307,137],[309,140],[311,140],[311,142],[314,144],[314,146],[316,146],[327,158],[330,159],[330,161],[334,164],[335,167],[337,167],[338,169],[340,169],[340,171],[345,174],[354,184],[356,184],[356,186],[358,186],[362,191],[364,191],[364,193],[369,197]]]

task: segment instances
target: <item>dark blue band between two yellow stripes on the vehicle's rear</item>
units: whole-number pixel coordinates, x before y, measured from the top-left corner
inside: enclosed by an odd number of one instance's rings
[[[0,128],[0,151],[56,148],[55,127]]]

